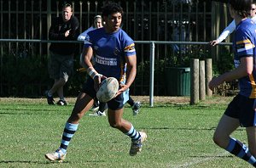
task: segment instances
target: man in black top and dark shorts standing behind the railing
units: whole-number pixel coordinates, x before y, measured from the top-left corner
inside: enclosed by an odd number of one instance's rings
[[[65,4],[62,16],[56,18],[49,28],[49,40],[76,41],[79,35],[79,20],[73,16],[73,8]],[[60,100],[58,105],[67,105],[64,98],[63,87],[68,77],[73,73],[73,54],[75,43],[51,43],[49,46],[49,76],[55,80],[53,86],[46,92],[48,104],[55,104],[53,94],[57,92]]]

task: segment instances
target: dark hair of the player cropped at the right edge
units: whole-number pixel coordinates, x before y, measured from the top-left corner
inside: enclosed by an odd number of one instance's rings
[[[251,4],[253,0],[230,0],[231,8],[236,10],[236,13],[242,18],[246,18],[250,15]]]

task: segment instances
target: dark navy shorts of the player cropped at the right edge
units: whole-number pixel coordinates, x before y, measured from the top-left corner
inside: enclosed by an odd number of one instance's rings
[[[238,119],[241,126],[256,126],[255,108],[255,98],[247,98],[241,94],[238,94],[230,102],[224,114]]]

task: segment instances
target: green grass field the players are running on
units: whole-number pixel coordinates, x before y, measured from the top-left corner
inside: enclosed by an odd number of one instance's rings
[[[0,167],[250,167],[212,142],[212,134],[230,98],[210,98],[189,104],[143,103],[133,116],[125,107],[124,118],[147,132],[142,154],[129,155],[131,140],[108,126],[106,117],[80,121],[63,163],[52,163],[45,153],[59,147],[67,117],[73,109],[49,106],[44,99],[0,98]],[[233,135],[247,143],[240,128]]]

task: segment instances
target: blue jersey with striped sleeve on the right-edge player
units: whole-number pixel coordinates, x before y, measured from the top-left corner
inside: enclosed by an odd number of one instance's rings
[[[247,98],[256,98],[256,25],[251,19],[242,20],[236,25],[233,48],[234,63],[237,67],[242,57],[253,57],[253,73],[239,79],[240,94]]]

